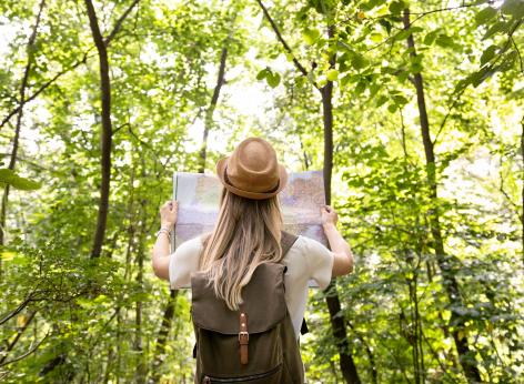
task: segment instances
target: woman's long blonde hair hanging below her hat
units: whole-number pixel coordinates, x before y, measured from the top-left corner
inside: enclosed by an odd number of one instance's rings
[[[241,291],[262,263],[282,259],[282,213],[278,196],[245,199],[223,189],[219,219],[200,259],[218,297],[236,311]]]

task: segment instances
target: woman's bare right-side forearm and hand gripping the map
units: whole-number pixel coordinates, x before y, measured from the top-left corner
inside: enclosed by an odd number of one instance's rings
[[[339,215],[330,205],[322,208],[322,225],[325,236],[330,243],[331,251],[334,253],[333,276],[342,276],[353,272],[353,253],[350,244],[342,238],[336,229]]]

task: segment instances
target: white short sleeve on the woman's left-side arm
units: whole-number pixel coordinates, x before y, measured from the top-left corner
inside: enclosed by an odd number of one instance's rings
[[[198,236],[180,244],[169,255],[169,283],[172,290],[190,285],[191,273],[199,269],[202,247],[202,240]]]

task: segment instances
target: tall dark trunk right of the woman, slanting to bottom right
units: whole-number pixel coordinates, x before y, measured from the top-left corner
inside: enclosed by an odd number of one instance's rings
[[[404,10],[404,29],[409,29],[411,26],[410,22],[410,10]],[[416,57],[415,52],[415,42],[413,34],[410,34],[407,38],[407,48],[411,49],[411,57]],[[436,164],[435,164],[435,153],[433,148],[433,142],[430,135],[430,122],[427,119],[427,109],[425,104],[424,97],[424,83],[422,74],[415,73],[413,75],[413,82],[416,90],[416,102],[419,105],[419,114],[421,121],[421,133],[422,133],[422,143],[424,145],[424,153],[426,160],[426,171],[427,171],[427,183],[430,186],[430,199],[434,204],[430,215],[430,225],[433,236],[433,247],[436,254],[436,262],[439,267],[442,271],[443,284],[447,294],[450,302],[453,307],[462,307],[463,302],[461,297],[461,292],[458,287],[458,282],[456,281],[452,266],[450,265],[451,257],[445,253],[444,249],[444,239],[442,236],[441,223],[440,223],[440,213],[437,209],[437,184],[436,184]],[[466,337],[465,332],[465,322],[456,311],[452,310],[451,323],[453,325],[452,335],[455,342],[455,346],[458,353],[458,358],[464,370],[464,374],[470,383],[481,382],[481,373],[475,363],[474,356],[472,356],[473,351],[470,348],[470,344]]]

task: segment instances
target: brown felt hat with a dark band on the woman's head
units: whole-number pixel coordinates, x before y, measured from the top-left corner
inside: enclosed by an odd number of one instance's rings
[[[254,200],[272,198],[288,183],[273,146],[261,138],[245,139],[230,156],[220,159],[216,175],[231,193]]]

